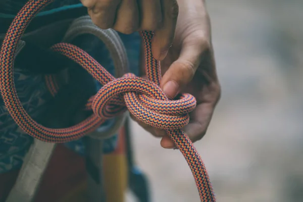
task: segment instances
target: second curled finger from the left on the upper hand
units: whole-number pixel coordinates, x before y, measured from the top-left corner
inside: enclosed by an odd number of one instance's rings
[[[136,0],[123,0],[117,12],[113,29],[123,34],[131,34],[138,30],[139,11]]]

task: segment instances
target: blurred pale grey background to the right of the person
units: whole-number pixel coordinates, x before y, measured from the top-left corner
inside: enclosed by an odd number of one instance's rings
[[[222,98],[195,146],[217,200],[303,201],[303,2],[207,2]],[[133,132],[153,201],[199,201],[179,151]]]

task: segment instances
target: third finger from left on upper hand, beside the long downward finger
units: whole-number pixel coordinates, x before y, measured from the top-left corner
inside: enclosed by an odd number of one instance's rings
[[[162,25],[162,8],[160,0],[140,0],[140,30],[154,31]]]

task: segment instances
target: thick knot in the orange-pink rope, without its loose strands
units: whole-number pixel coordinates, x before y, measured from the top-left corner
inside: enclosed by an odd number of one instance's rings
[[[120,99],[115,97],[119,94],[123,94],[119,96]],[[188,124],[188,113],[195,108],[196,103],[190,94],[180,98],[169,100],[153,82],[126,74],[124,78],[109,82],[97,92],[92,110],[100,118],[111,118],[119,114],[117,109],[122,110],[121,104],[125,102],[129,112],[145,124],[162,129],[179,129]]]

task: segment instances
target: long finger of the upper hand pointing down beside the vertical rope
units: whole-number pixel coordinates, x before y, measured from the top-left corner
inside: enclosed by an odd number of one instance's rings
[[[179,7],[177,0],[161,0],[162,27],[155,30],[151,52],[156,60],[163,60],[175,38]]]

